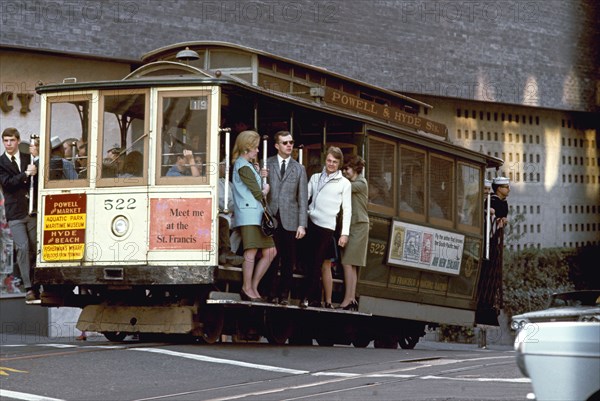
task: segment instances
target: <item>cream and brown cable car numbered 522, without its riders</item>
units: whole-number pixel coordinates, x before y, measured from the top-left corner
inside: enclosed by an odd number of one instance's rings
[[[186,48],[198,58],[178,60]],[[495,313],[481,282],[497,278],[481,274],[482,190],[485,169],[501,160],[450,143],[425,103],[221,42],[158,49],[120,81],[38,93],[45,151],[35,277],[42,305],[83,308],[80,330],[111,340],[187,334],[212,343],[229,334],[412,348],[428,324],[472,325]],[[370,235],[358,312],[300,309],[301,272],[289,306],[240,299],[241,268],[218,261],[217,216],[219,162],[242,123],[261,135],[292,132],[308,178],[330,145],[366,160]],[[76,179],[54,171],[50,144],[65,132],[83,146]],[[186,148],[195,166],[178,159]],[[342,294],[337,277],[334,302]]]

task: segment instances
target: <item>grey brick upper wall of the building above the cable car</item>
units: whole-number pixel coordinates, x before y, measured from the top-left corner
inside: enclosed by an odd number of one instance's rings
[[[1,2],[0,42],[139,59],[234,42],[402,92],[598,111],[594,0]]]

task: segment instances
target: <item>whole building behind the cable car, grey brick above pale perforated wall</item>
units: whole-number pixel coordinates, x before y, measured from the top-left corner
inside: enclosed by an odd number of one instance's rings
[[[599,242],[600,6],[550,1],[3,1],[0,128],[39,127],[37,82],[123,77],[141,55],[233,42],[432,104],[505,161],[515,250]],[[31,111],[22,100],[30,96]],[[6,102],[5,102],[6,103]],[[19,110],[20,109],[20,110]],[[27,108],[26,108],[27,109]]]

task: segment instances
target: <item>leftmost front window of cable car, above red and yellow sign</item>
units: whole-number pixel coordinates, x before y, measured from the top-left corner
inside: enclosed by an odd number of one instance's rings
[[[89,98],[51,100],[48,114],[46,181],[56,181],[57,184],[60,181],[60,185],[64,186],[68,181],[87,178]]]

